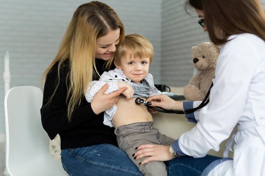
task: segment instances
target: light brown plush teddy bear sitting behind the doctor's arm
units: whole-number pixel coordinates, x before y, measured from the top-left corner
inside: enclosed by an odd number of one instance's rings
[[[191,48],[194,67],[199,72],[184,87],[184,97],[188,101],[201,101],[206,96],[213,78],[220,46],[211,42],[202,42]]]

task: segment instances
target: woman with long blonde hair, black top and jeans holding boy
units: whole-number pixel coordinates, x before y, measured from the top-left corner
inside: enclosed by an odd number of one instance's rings
[[[96,1],[83,4],[44,71],[42,126],[50,139],[60,135],[62,164],[70,175],[141,175],[117,147],[114,128],[103,124],[102,112],[127,88],[105,95],[105,84],[91,103],[84,97],[89,82],[111,68],[124,34],[111,7]]]

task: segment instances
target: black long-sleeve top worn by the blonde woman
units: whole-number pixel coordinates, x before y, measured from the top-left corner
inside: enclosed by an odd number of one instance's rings
[[[104,71],[104,60],[96,59],[99,74]],[[108,143],[117,146],[114,128],[103,124],[103,113],[94,114],[83,96],[81,105],[75,108],[71,121],[67,118],[67,74],[70,71],[69,60],[64,61],[60,68],[60,83],[57,91],[47,105],[49,98],[54,93],[58,79],[58,63],[56,63],[46,76],[43,91],[43,102],[40,109],[41,123],[50,139],[57,134],[61,138],[61,149],[85,147],[96,144]],[[97,80],[98,76],[93,76]]]

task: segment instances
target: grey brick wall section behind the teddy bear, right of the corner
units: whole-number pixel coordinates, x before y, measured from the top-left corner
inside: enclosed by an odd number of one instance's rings
[[[162,83],[183,86],[193,74],[191,46],[208,41],[196,20],[187,15],[184,1],[162,1]]]

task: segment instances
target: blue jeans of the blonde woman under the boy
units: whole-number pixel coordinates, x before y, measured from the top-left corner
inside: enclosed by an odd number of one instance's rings
[[[142,175],[127,154],[111,144],[64,149],[62,164],[69,175]]]

